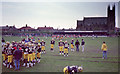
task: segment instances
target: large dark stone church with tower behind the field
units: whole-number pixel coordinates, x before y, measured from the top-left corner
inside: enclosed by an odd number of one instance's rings
[[[107,17],[84,17],[77,20],[78,31],[114,31],[115,30],[115,5],[107,8]]]

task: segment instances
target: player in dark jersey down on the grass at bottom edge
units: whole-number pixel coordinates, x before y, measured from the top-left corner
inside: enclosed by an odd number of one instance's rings
[[[73,74],[73,73],[79,73],[83,72],[82,66],[66,66],[63,69],[64,74]]]

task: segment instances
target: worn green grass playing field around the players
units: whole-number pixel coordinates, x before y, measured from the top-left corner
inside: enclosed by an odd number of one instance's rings
[[[6,41],[20,41],[21,37],[7,37]],[[37,39],[37,37],[36,37]],[[99,37],[83,38],[86,42],[85,52],[71,52],[69,56],[64,57],[59,55],[58,40],[55,39],[54,52],[50,52],[51,37],[40,39],[46,41],[46,54],[42,55],[41,62],[34,67],[21,67],[20,72],[62,72],[67,65],[83,65],[83,72],[118,72],[118,38],[117,37]],[[70,43],[72,38],[66,40]],[[75,38],[73,38],[75,39]],[[82,38],[78,38],[81,42]],[[75,39],[76,40],[76,39]],[[64,40],[65,41],[65,40]],[[105,41],[108,46],[108,59],[102,59],[101,45]],[[14,69],[7,69],[2,66],[3,72],[14,72]]]

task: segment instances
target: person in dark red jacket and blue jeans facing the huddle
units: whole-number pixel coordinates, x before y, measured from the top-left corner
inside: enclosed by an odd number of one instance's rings
[[[14,56],[14,62],[15,62],[15,70],[20,69],[20,59],[22,58],[22,51],[19,49],[19,46],[17,47],[17,50],[13,53]]]

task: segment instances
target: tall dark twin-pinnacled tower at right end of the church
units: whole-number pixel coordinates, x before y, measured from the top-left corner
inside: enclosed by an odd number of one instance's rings
[[[110,9],[110,5],[107,9],[107,25],[108,25],[108,31],[114,31],[115,30],[115,4],[112,6],[112,9]]]

